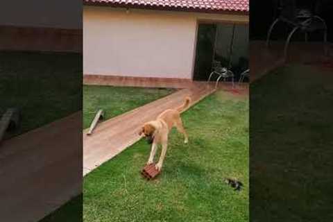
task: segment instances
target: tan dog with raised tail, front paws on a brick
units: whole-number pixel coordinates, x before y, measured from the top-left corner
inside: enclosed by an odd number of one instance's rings
[[[184,126],[182,126],[180,112],[188,108],[190,102],[191,99],[187,96],[183,105],[176,110],[165,110],[156,120],[144,123],[144,126],[142,126],[142,129],[139,132],[139,135],[143,135],[148,140],[149,144],[153,143],[151,146],[151,155],[149,156],[147,164],[153,163],[157,146],[158,144],[162,144],[160,160],[156,164],[156,169],[158,171],[162,169],[164,157],[167,153],[168,135],[173,126],[176,126],[177,130],[184,135],[184,143],[187,144],[187,142],[189,142]]]

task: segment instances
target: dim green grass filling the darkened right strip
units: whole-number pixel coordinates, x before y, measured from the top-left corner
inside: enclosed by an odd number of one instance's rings
[[[253,221],[332,221],[332,83],[332,71],[289,65],[251,84]]]

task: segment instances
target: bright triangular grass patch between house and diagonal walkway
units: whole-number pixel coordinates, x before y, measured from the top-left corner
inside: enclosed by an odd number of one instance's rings
[[[175,89],[85,85],[83,86],[83,128],[89,128],[99,109],[105,111],[105,119],[110,119],[174,91]]]

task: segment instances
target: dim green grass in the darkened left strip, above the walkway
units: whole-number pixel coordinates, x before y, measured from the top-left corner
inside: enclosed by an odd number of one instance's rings
[[[22,111],[20,135],[81,108],[82,56],[75,53],[0,52],[0,115]]]

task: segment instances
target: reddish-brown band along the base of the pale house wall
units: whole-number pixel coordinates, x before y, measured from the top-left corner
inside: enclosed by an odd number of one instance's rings
[[[106,75],[94,75],[94,74],[83,75],[83,84],[85,85],[182,88],[192,82],[193,80],[189,78],[106,76]]]

